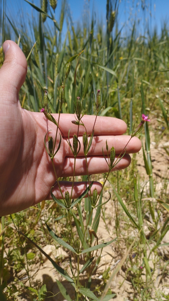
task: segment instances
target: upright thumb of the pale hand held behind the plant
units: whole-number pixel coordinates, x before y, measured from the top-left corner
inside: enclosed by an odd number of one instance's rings
[[[4,63],[0,69],[0,91],[2,101],[18,101],[18,92],[27,73],[27,61],[19,46],[13,41],[3,44]]]

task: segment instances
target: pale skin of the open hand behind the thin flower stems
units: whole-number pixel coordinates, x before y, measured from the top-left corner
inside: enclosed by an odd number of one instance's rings
[[[29,112],[22,109],[19,101],[19,90],[23,85],[26,72],[26,58],[15,42],[6,41],[3,45],[5,61],[0,69],[0,216],[15,213],[33,206],[42,200],[50,200],[50,189],[56,181],[51,159],[45,146],[44,137],[47,132],[46,117],[43,113]],[[53,114],[57,120],[58,115]],[[74,114],[61,114],[60,129],[65,137],[77,133],[77,126],[72,124]],[[95,116],[84,115],[83,123],[88,134],[91,134]],[[56,126],[48,121],[50,135],[55,137]],[[106,154],[106,139],[109,149],[114,146],[116,157],[127,144],[130,136],[122,135],[127,129],[126,123],[112,117],[97,117],[94,128],[94,139],[88,153],[89,174],[108,171],[102,154]],[[84,127],[79,127],[79,140],[82,145]],[[58,137],[59,141],[59,137]],[[58,143],[57,141],[57,143]],[[131,157],[141,148],[141,142],[133,137],[126,148],[126,154],[116,166],[124,169],[129,166]],[[58,177],[73,175],[74,157],[65,138],[54,158]],[[86,175],[86,164],[83,145],[76,159],[75,175]],[[71,182],[60,182],[63,195],[66,190],[71,193]],[[84,182],[75,182],[72,197],[78,197],[85,190]],[[101,184],[94,182],[92,191],[101,190]],[[58,185],[53,188],[57,198],[61,198]]]

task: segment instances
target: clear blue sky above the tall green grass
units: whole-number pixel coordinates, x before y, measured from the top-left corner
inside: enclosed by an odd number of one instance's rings
[[[40,0],[29,0],[35,5],[40,6]],[[84,10],[90,8],[90,15],[92,11],[96,13],[97,18],[102,18],[103,23],[106,25],[106,0],[67,0],[70,10],[72,12],[72,20],[76,25],[77,21],[81,20]],[[144,33],[144,22],[149,24],[149,28],[153,30],[156,25],[158,33],[161,31],[161,24],[164,24],[166,21],[169,27],[169,0],[144,0],[146,7],[141,8],[141,0],[121,0],[119,4],[119,28],[125,23],[123,34],[127,33],[134,18],[140,20],[140,23],[137,25],[137,32]],[[61,0],[58,0],[57,8],[55,11],[55,18],[59,20],[59,13],[61,8]],[[24,0],[7,0],[7,15],[12,15],[13,19],[18,20],[19,11],[22,11],[31,15],[34,11],[31,6],[26,3]],[[151,16],[150,17],[150,11]],[[36,15],[35,15],[36,17]],[[25,18],[25,17],[24,17]],[[66,30],[66,23],[65,23]]]

